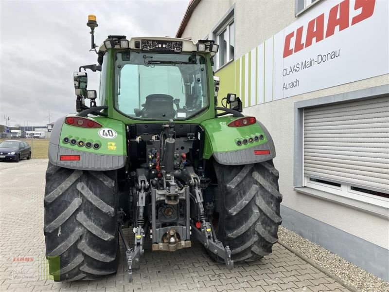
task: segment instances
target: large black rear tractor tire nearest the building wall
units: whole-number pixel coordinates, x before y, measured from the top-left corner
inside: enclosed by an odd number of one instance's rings
[[[235,262],[271,253],[281,224],[278,171],[273,162],[247,165],[215,163],[221,206],[217,238],[231,249]]]

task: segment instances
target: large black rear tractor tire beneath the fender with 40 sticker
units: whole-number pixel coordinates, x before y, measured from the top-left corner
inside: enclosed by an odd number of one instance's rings
[[[54,280],[90,280],[116,273],[117,204],[116,171],[74,170],[49,162],[44,234]]]

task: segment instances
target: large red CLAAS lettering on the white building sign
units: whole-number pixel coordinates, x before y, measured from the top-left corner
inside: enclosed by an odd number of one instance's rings
[[[308,26],[301,26],[295,32],[285,37],[283,46],[283,57],[299,52],[312,45],[313,39],[319,42],[324,38],[335,34],[336,27],[339,32],[354,25],[366,18],[370,18],[374,12],[375,0],[355,0],[354,12],[358,13],[351,18],[350,24],[350,0],[344,0],[330,9],[326,28],[324,27],[324,13],[308,22]],[[303,31],[306,29],[305,42],[302,39]],[[294,42],[294,47],[293,47]],[[291,47],[292,46],[292,47]]]

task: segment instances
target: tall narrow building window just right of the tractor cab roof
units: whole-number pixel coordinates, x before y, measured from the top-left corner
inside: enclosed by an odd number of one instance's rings
[[[235,24],[233,18],[230,18],[216,32],[216,43],[219,45],[219,52],[216,55],[216,69],[218,69],[234,59]]]

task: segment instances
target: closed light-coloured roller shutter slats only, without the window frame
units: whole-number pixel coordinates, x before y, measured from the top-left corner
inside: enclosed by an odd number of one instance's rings
[[[305,109],[304,175],[389,193],[389,96]]]

